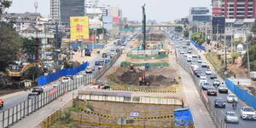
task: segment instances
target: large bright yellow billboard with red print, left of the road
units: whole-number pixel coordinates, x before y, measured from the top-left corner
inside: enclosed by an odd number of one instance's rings
[[[88,16],[70,17],[70,38],[89,39]]]

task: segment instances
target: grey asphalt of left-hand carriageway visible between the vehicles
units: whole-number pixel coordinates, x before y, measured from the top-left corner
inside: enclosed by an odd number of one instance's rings
[[[101,54],[96,55],[96,58],[94,58],[94,59],[89,61],[90,66],[94,66],[95,65],[95,61],[102,58],[102,53],[108,52],[108,51],[110,52],[111,48],[113,48],[113,49],[120,49],[120,46],[117,46],[117,45],[115,45],[113,43],[106,44],[106,48],[102,49]],[[109,56],[108,56],[108,59],[109,59]],[[95,67],[95,69],[96,70],[94,72],[96,72],[98,70],[98,67]],[[55,83],[55,84],[61,84],[61,83],[58,82],[58,83]],[[44,88],[44,91],[52,89],[53,85],[54,84],[50,84],[50,85],[46,86]],[[19,95],[10,96],[8,98],[3,98],[4,106],[3,106],[2,109],[0,109],[0,112],[8,110],[9,108],[15,107],[15,105],[20,104],[20,102],[25,102],[27,100],[27,96],[28,96],[28,94],[30,92],[31,92],[30,90],[26,90],[26,91],[24,91],[22,93],[19,93]]]

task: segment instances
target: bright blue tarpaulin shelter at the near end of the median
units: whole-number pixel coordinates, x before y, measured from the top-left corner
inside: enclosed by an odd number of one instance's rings
[[[178,108],[174,110],[175,126],[186,126],[193,123],[193,117],[189,108]]]

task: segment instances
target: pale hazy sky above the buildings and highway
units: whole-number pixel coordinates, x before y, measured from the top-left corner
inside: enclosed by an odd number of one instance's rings
[[[49,0],[13,0],[9,12],[35,12],[34,2],[38,1],[38,13],[49,16]],[[208,7],[212,0],[99,0],[101,3],[119,7],[129,20],[141,20],[143,3],[146,3],[147,19],[158,21],[177,20],[189,15],[190,7]]]

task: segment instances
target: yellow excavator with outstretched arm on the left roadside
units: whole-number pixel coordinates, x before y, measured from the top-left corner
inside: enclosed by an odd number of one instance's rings
[[[37,61],[37,62],[32,62],[32,63],[25,65],[24,67],[21,68],[21,70],[17,69],[17,68],[19,68],[19,67],[17,67],[17,65],[15,65],[15,66],[12,65],[12,66],[9,66],[9,68],[6,69],[6,71],[9,75],[9,77],[11,77],[11,78],[21,78],[28,68],[36,67],[36,66],[40,66],[41,68],[44,69],[44,63],[42,61]],[[13,67],[15,67],[16,70],[12,70]]]

